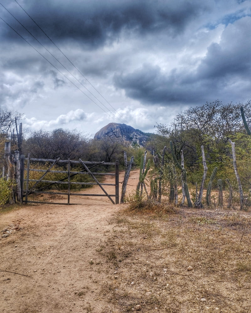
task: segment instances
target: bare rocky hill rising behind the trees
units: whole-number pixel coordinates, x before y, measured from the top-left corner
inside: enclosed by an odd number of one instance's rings
[[[119,142],[128,143],[131,146],[139,145],[144,147],[150,134],[125,124],[109,123],[94,135],[94,139],[99,140],[107,136]]]

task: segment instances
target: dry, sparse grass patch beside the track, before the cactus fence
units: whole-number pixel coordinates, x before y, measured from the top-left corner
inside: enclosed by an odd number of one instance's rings
[[[251,312],[250,213],[154,204],[111,222],[102,294],[119,310],[106,312]]]

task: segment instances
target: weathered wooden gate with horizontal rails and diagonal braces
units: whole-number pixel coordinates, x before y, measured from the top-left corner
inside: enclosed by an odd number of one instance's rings
[[[26,186],[24,186],[24,197],[25,197],[25,203],[54,203],[54,204],[71,204],[70,203],[70,196],[93,196],[93,197],[108,197],[110,201],[113,204],[119,203],[119,161],[116,161],[115,163],[111,162],[83,162],[81,159],[79,161],[71,161],[68,160],[60,160],[58,157],[57,159],[35,159],[35,158],[24,158],[24,160],[27,160],[27,168],[24,168],[24,171],[27,171],[26,175]],[[46,164],[51,163],[51,165],[48,167],[48,169],[35,169],[32,168],[33,162],[46,162]],[[55,171],[52,170],[53,166],[60,163],[67,163],[67,170],[66,171]],[[83,170],[79,172],[71,171],[71,166],[79,164],[83,166]],[[101,165],[109,165],[109,166],[115,166],[115,173],[99,173],[99,172],[91,172],[91,168],[95,166],[101,166]],[[43,173],[42,176],[39,179],[30,179],[30,172],[41,172]],[[63,173],[66,174],[66,177],[58,180],[58,181],[52,181],[52,180],[43,180],[45,175],[47,173]],[[71,178],[75,175],[89,175],[92,177],[94,182],[71,182]],[[100,183],[97,179],[97,176],[115,176],[115,183],[114,184],[107,184],[107,183]],[[29,183],[32,183],[32,186],[29,187]],[[44,187],[36,188],[39,183],[46,183]],[[67,185],[67,192],[56,192],[56,191],[44,191],[45,188],[51,187],[53,185],[60,185],[60,184],[66,184]],[[103,191],[102,194],[87,194],[87,193],[73,193],[71,192],[71,185],[99,185],[101,190]],[[103,186],[114,186],[115,187],[115,194],[108,194],[108,192],[105,191]],[[56,203],[56,202],[41,202],[41,201],[29,201],[28,196],[32,193],[42,193],[42,194],[58,194],[58,195],[67,195],[67,203]],[[115,202],[111,197],[115,197]]]

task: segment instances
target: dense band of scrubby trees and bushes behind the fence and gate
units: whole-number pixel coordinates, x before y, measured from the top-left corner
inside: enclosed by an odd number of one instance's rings
[[[174,121],[169,125],[158,124],[155,126],[156,134],[152,134],[151,140],[147,145],[147,156],[152,158],[154,155],[161,159],[163,148],[166,146],[164,155],[164,166],[152,165],[149,171],[150,180],[160,176],[163,180],[163,194],[169,195],[173,188],[172,166],[175,165],[172,156],[170,141],[173,145],[175,158],[181,162],[181,151],[184,153],[184,167],[186,169],[187,184],[190,189],[194,189],[196,182],[200,185],[203,165],[201,156],[201,146],[204,146],[206,163],[208,167],[205,187],[214,168],[217,167],[216,179],[212,182],[213,188],[217,187],[217,180],[222,179],[223,188],[227,189],[226,179],[237,190],[237,182],[232,166],[232,150],[228,142],[229,139],[236,143],[236,155],[238,172],[243,184],[247,204],[250,198],[249,189],[251,185],[251,169],[249,166],[251,138],[243,126],[240,107],[243,106],[247,124],[251,125],[251,101],[245,104],[227,104],[220,101],[206,103],[199,107],[191,107],[179,113]],[[20,121],[22,115],[18,112],[0,110],[0,132],[1,132],[1,166],[4,156],[4,141],[11,137],[11,130],[16,132],[15,120]],[[15,142],[13,142],[15,144]],[[15,145],[13,146],[13,150]],[[88,138],[87,135],[68,129],[55,129],[53,131],[32,131],[25,133],[22,153],[31,157],[55,159],[70,158],[84,161],[105,161],[115,162],[119,160],[123,167],[123,151],[127,152],[127,157],[135,157],[134,166],[139,166],[141,156],[145,149],[141,147],[124,146],[121,142],[106,137],[102,140]],[[151,164],[153,164],[151,162]],[[177,177],[181,172],[176,168]],[[178,179],[178,184],[180,184]],[[191,191],[191,198],[195,201],[194,191]]]

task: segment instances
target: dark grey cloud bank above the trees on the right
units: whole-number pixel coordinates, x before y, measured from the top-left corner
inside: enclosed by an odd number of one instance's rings
[[[229,25],[220,43],[208,47],[196,70],[166,73],[159,66],[144,64],[130,74],[116,74],[115,85],[128,97],[151,105],[198,104],[217,98],[242,101],[251,87],[251,41],[246,31],[250,28],[250,17]]]

